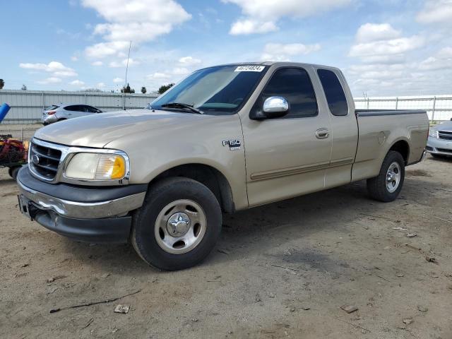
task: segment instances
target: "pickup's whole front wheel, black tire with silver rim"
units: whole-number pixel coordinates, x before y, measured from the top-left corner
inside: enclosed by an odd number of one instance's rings
[[[143,260],[162,270],[200,263],[220,236],[220,204],[206,186],[174,177],[151,186],[133,216],[131,243]]]

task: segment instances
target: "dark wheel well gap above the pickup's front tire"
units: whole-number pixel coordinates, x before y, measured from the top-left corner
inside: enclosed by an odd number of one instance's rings
[[[149,182],[149,186],[167,177],[185,177],[201,182],[213,192],[218,203],[220,203],[222,211],[226,213],[234,212],[234,198],[230,183],[225,175],[215,167],[196,162],[177,165],[157,174]]]

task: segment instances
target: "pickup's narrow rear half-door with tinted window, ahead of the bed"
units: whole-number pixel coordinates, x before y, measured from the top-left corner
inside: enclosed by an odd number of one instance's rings
[[[358,126],[355,106],[343,74],[336,69],[319,68],[316,71],[325,93],[322,98],[326,99],[331,119],[331,162],[325,178],[325,187],[330,188],[351,182]]]

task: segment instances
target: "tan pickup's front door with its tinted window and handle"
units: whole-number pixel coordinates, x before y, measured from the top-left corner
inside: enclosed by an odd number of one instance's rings
[[[317,83],[314,90],[313,76],[311,68],[276,69],[252,109],[261,108],[268,97],[280,96],[290,104],[288,114],[262,121],[242,117],[250,206],[324,187],[331,153],[330,121],[317,105],[321,89]]]

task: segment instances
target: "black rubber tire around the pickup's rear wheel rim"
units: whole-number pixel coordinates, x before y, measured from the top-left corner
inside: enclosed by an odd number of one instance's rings
[[[400,167],[400,182],[398,183],[397,189],[393,192],[388,191],[386,186],[386,176],[388,169],[393,164],[397,162]],[[394,201],[400,194],[403,187],[403,181],[405,180],[405,160],[400,153],[390,150],[381,164],[380,173],[378,176],[367,179],[367,191],[369,196],[378,201],[383,201],[387,203],[389,201]]]

